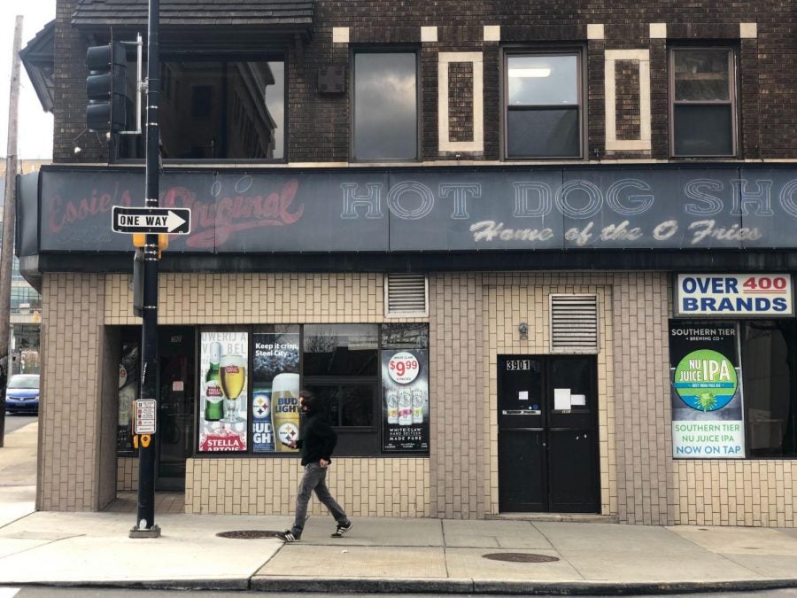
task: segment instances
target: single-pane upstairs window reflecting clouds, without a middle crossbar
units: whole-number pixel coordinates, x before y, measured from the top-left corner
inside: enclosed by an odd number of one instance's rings
[[[354,54],[355,160],[418,159],[417,54]]]

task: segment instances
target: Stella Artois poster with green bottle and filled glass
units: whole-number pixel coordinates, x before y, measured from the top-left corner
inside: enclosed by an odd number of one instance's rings
[[[246,450],[248,353],[246,332],[200,334],[200,453]]]

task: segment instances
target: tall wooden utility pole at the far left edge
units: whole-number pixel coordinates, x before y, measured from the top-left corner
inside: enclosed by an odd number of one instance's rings
[[[6,379],[11,376],[12,359],[8,353],[11,322],[11,278],[14,266],[14,221],[17,190],[17,118],[19,113],[19,49],[22,47],[22,15],[14,25],[12,84],[8,102],[8,149],[5,154],[5,200],[3,207],[3,248],[0,250],[0,366]],[[0,447],[5,443],[5,388],[0,389]]]

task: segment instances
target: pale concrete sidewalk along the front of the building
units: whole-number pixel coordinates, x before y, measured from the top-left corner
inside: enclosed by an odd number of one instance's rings
[[[7,437],[0,462],[27,428]],[[282,531],[288,516],[162,515],[159,539],[131,540],[131,514],[33,512],[33,497],[29,485],[0,488],[0,584],[332,594],[797,587],[795,530],[355,517],[352,532],[334,539],[332,518],[313,516],[301,541],[283,545],[217,534]],[[555,560],[519,562],[528,555]]]

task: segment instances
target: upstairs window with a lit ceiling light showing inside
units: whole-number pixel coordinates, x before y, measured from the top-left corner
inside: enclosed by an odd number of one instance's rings
[[[504,72],[507,158],[581,158],[581,52],[513,51]]]

